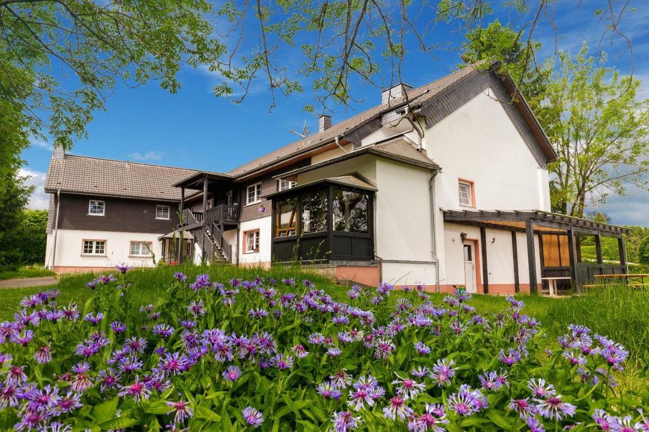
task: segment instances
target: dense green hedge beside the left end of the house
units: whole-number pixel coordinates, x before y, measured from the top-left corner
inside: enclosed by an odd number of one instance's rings
[[[18,250],[23,264],[45,263],[47,210],[25,210],[17,228],[21,241]]]

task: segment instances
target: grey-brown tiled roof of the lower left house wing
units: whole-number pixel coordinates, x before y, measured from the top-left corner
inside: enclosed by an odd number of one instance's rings
[[[172,185],[197,172],[66,154],[50,160],[45,191],[178,201],[180,189]]]

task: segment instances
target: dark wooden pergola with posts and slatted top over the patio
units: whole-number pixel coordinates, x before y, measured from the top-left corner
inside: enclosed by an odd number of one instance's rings
[[[517,232],[526,234],[528,250],[528,267],[530,272],[530,293],[537,293],[536,250],[534,236],[539,236],[539,255],[541,259],[541,277],[569,277],[573,287],[581,287],[593,281],[597,274],[622,274],[628,271],[626,263],[626,245],[623,234],[628,230],[622,226],[589,221],[550,213],[548,211],[530,210],[443,210],[444,221],[477,226],[480,228],[482,248],[482,272],[485,293],[489,292],[489,272],[487,271],[486,228],[507,230],[511,232],[514,283],[519,292],[519,269],[517,252]],[[592,235],[596,250],[596,263],[582,262],[580,255],[580,236]],[[602,259],[602,236],[615,237],[618,242],[620,263],[604,263]],[[555,240],[556,239],[556,240]],[[556,243],[555,243],[556,242]],[[558,265],[545,265],[543,248],[556,247]],[[563,251],[564,256],[561,256]],[[565,254],[568,256],[567,264]]]

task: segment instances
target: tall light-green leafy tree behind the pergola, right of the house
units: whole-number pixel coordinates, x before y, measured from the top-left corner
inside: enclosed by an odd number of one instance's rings
[[[541,123],[559,160],[550,167],[552,207],[583,217],[626,186],[649,188],[649,100],[640,81],[600,66],[587,46],[559,53],[545,89]]]

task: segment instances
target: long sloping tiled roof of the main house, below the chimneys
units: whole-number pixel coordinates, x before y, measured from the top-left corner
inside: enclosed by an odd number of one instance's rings
[[[408,91],[407,97],[409,100],[420,98],[418,100],[421,101],[429,99],[430,97],[434,97],[434,95],[436,95],[440,91],[445,90],[446,88],[448,88],[448,86],[451,86],[455,82],[458,82],[458,80],[460,80],[461,78],[466,77],[467,75],[475,71],[476,66],[483,64],[484,62],[485,60],[471,66],[464,67],[463,69],[459,69],[459,71],[451,73],[446,77],[439,78],[438,80],[430,82],[429,84],[415,88],[414,90],[410,90]],[[345,134],[346,132],[357,128],[358,126],[363,125],[377,115],[382,114],[382,112],[390,110],[391,108],[394,108],[395,105],[398,105],[402,102],[406,102],[406,97],[400,97],[389,102],[389,104],[382,104],[375,106],[374,108],[370,108],[367,111],[354,115],[354,117],[350,117],[347,120],[336,123],[336,125],[332,125],[330,128],[323,130],[323,132],[318,132],[306,138],[299,139],[298,141],[290,143],[289,145],[286,145],[281,149],[277,149],[273,152],[265,154],[260,158],[252,160],[251,162],[244,163],[240,167],[229,171],[227,174],[230,174],[232,176],[239,176],[241,174],[247,173],[248,171],[253,171],[254,169],[262,167],[263,165],[267,165],[268,163],[272,163],[281,160],[282,158],[291,156],[291,154],[294,154],[296,152],[308,149],[309,147],[316,147],[319,144],[327,143],[328,141],[336,138],[336,136]]]

